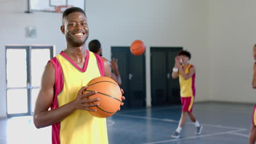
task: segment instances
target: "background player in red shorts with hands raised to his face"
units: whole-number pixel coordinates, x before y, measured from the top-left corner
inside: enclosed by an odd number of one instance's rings
[[[191,55],[188,51],[180,51],[175,58],[175,66],[172,71],[172,78],[179,77],[179,85],[181,86],[182,115],[179,120],[178,128],[171,136],[178,139],[182,127],[186,121],[187,114],[191,121],[195,124],[195,134],[201,134],[202,125],[196,121],[195,115],[192,113],[193,103],[195,99],[195,67],[188,63]]]

